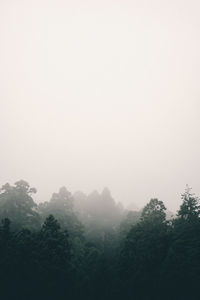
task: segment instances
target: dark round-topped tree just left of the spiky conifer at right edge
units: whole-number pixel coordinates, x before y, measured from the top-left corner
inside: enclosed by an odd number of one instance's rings
[[[169,244],[165,210],[162,201],[151,199],[125,238],[120,274],[126,299],[132,299],[133,294],[136,299],[156,299],[154,294],[160,286],[160,270]]]

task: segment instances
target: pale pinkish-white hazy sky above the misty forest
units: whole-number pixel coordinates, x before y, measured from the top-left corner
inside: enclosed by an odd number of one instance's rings
[[[0,184],[200,195],[200,2],[1,0]]]

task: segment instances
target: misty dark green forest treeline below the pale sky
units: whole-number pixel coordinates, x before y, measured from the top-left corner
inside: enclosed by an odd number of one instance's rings
[[[162,201],[142,211],[108,189],[62,187],[37,205],[23,180],[0,190],[2,299],[199,299],[200,205],[186,189],[173,219]]]

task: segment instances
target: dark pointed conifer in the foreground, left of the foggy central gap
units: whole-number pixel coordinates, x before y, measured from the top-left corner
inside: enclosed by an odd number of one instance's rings
[[[59,299],[62,299],[67,290],[70,294],[72,284],[70,259],[68,231],[63,231],[54,216],[49,215],[37,237],[37,273],[40,276],[39,284],[43,298],[49,295],[53,298],[59,296]]]

